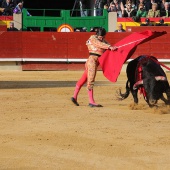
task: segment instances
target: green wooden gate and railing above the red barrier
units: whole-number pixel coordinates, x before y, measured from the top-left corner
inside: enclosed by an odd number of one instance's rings
[[[31,13],[31,10],[28,9]],[[35,10],[35,9],[34,9]],[[45,16],[46,10],[41,9],[43,12],[42,16],[27,16],[27,9],[23,10],[22,18],[22,29],[27,28],[39,28],[41,32],[45,28],[58,28],[62,24],[69,24],[72,28],[83,28],[86,27],[87,31],[90,31],[92,27],[103,27],[108,31],[108,12],[103,10],[102,16],[71,16],[70,10],[61,10],[59,16]]]

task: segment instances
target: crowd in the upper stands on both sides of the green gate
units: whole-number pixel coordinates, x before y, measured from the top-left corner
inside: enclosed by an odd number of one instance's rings
[[[85,0],[82,8],[86,8]],[[170,0],[96,0],[96,8],[105,8],[108,12],[117,12],[117,17],[169,17]],[[13,13],[21,13],[23,0],[0,0],[0,15],[12,16]],[[101,12],[98,12],[102,15]],[[28,13],[28,15],[30,15]],[[87,16],[87,14],[85,15]]]

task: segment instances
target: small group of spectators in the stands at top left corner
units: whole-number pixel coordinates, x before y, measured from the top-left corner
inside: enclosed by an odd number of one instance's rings
[[[13,14],[22,13],[24,1],[23,0],[0,0],[0,15],[13,16]],[[27,13],[30,16],[30,13]]]

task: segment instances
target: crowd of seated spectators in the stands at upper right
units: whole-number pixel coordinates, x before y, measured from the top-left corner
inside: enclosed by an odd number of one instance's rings
[[[117,17],[170,17],[170,0],[107,0],[105,9],[117,12]]]

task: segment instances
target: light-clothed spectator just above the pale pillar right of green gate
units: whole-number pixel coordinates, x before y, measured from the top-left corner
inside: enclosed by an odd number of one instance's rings
[[[124,16],[124,5],[119,0],[113,0],[110,3],[108,12],[117,12],[117,17],[122,18]]]

